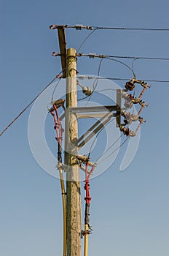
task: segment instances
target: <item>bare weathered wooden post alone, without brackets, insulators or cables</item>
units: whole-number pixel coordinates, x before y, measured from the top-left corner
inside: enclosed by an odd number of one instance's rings
[[[77,106],[76,50],[69,48],[66,54],[66,220],[67,256],[81,256],[81,192],[77,152],[77,116],[68,108]]]

